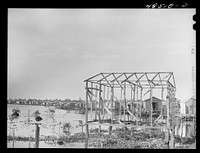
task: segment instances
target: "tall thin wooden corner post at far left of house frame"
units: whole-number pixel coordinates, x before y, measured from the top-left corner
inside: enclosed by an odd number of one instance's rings
[[[86,101],[85,101],[85,108],[86,108],[86,117],[85,117],[85,129],[86,129],[86,138],[85,138],[85,148],[88,148],[88,139],[89,139],[89,127],[88,127],[88,82],[86,81]]]

